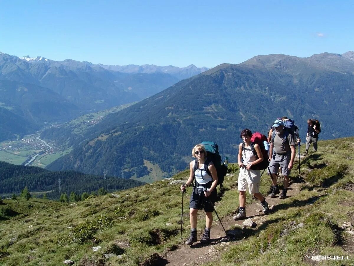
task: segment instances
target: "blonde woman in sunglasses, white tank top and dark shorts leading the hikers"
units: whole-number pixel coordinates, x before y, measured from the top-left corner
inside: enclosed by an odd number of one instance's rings
[[[200,243],[209,242],[214,204],[217,198],[216,185],[218,183],[216,168],[213,162],[207,160],[204,145],[195,145],[192,149],[192,156],[197,158],[198,168],[194,173],[195,161],[191,161],[189,164],[189,178],[184,185],[181,185],[181,190],[184,192],[185,188],[192,184],[195,176],[195,187],[193,188],[189,203],[190,237],[185,242],[187,245],[197,242],[197,213],[199,209],[204,209],[205,211],[205,231],[200,239]],[[207,169],[209,173],[204,169],[204,164],[208,164]]]

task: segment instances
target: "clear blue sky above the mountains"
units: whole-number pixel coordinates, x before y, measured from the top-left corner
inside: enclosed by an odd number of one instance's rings
[[[354,50],[354,1],[1,1],[0,51],[214,67]]]

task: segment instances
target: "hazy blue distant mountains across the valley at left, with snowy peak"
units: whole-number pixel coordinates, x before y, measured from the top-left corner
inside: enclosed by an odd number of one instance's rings
[[[0,52],[0,109],[7,110],[0,113],[11,113],[0,117],[0,141],[33,133],[44,123],[64,122],[84,113],[142,100],[175,84],[181,80],[178,77],[206,70],[153,66],[146,72],[123,73],[109,68],[113,66],[40,56],[20,58]],[[10,116],[14,119],[5,123]],[[18,124],[23,127],[18,128]]]

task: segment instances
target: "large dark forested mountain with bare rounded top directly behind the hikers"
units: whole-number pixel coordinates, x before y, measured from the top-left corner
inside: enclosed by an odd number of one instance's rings
[[[352,135],[353,54],[274,54],[219,65],[108,115],[48,169],[141,177],[150,161],[174,173],[205,140],[236,161],[243,128],[266,134],[284,115],[295,120],[303,141],[308,118],[321,121],[320,139]]]

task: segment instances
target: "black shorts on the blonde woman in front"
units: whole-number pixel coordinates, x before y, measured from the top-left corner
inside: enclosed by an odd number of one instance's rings
[[[198,194],[198,186],[210,188],[212,182],[213,181],[210,181],[209,183],[206,183],[204,185],[196,183],[192,195],[190,196],[189,209],[204,209],[205,212],[212,212],[214,210],[215,200],[217,199],[216,188],[214,188],[209,197],[206,197],[204,195],[204,192],[200,195]]]

